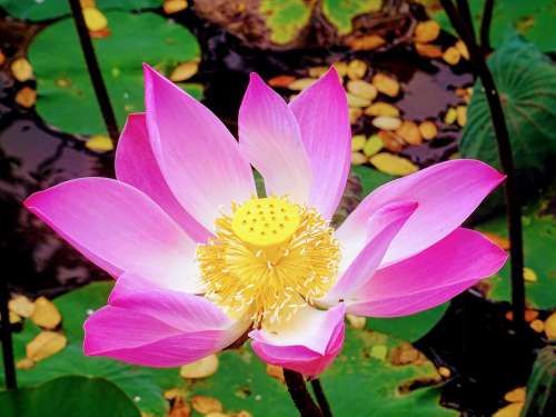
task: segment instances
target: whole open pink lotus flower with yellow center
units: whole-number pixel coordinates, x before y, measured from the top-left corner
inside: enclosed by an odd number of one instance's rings
[[[252,75],[239,143],[146,67],[117,179],[71,180],[26,207],[117,278],[85,324],[85,353],[187,364],[246,334],[262,360],[306,375],[340,351],[346,312],[395,317],[495,274],[506,254],[461,222],[504,177],[438,163],[368,196],[329,226],[350,165],[346,95],[330,69],[287,105]],[[257,198],[251,166],[268,198]]]

